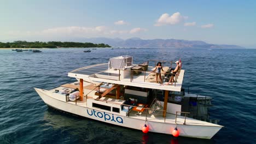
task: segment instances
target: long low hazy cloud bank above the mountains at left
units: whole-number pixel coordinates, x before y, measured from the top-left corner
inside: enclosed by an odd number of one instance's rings
[[[133,28],[127,30],[115,30],[106,26],[97,27],[54,27],[42,31],[9,31],[6,33],[8,39],[33,39],[33,40],[61,40],[68,38],[91,38],[91,37],[130,37],[131,34],[145,32],[144,28]],[[0,34],[1,35],[1,34]]]

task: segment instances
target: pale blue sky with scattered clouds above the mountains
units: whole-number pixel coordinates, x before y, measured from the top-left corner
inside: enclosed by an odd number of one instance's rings
[[[0,1],[0,41],[95,37],[256,47],[256,1]]]

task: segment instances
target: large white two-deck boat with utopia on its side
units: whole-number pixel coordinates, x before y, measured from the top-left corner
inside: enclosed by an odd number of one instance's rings
[[[155,62],[133,64],[131,56],[114,57],[69,72],[76,82],[35,90],[46,105],[75,115],[138,130],[147,125],[154,133],[172,135],[177,128],[180,136],[211,139],[223,127],[208,117],[212,98],[186,93],[183,69],[173,85],[166,85],[172,61],[161,61],[165,82],[159,85],[150,73]]]

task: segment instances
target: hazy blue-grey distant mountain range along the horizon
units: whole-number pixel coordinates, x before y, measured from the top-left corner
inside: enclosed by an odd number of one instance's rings
[[[104,43],[112,47],[195,47],[195,48],[243,48],[238,45],[216,45],[207,44],[200,40],[181,40],[181,39],[119,39],[119,38],[88,38],[79,41],[88,43]]]

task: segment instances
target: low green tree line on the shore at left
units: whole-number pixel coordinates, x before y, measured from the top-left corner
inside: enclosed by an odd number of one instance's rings
[[[94,43],[77,43],[77,42],[61,42],[61,41],[48,41],[48,42],[28,42],[28,41],[13,41],[12,43],[1,43],[2,48],[56,48],[56,47],[111,47],[108,44],[94,44]]]

